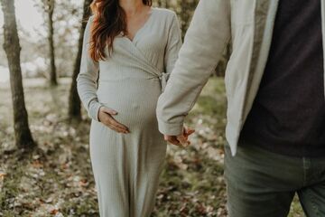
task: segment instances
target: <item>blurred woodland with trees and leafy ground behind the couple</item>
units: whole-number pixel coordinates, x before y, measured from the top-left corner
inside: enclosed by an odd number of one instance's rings
[[[14,0],[0,0],[0,216],[98,216],[90,122],[75,83],[90,2],[34,0],[43,17],[35,37],[16,22]],[[198,2],[155,0],[154,6],[174,10],[184,36]],[[230,46],[186,120],[197,130],[192,145],[168,147],[153,216],[227,216],[223,75],[229,54]],[[296,198],[290,216],[303,216]]]

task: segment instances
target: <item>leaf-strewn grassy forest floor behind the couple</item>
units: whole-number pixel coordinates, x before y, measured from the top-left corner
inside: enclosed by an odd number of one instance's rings
[[[24,80],[29,122],[38,148],[22,155],[14,146],[12,101],[0,86],[0,216],[98,216],[88,154],[89,120],[69,122],[69,79],[50,89]],[[186,149],[168,146],[153,217],[227,216],[223,178],[226,125],[223,81],[213,78],[187,118],[197,130]],[[297,198],[291,217],[301,217]]]

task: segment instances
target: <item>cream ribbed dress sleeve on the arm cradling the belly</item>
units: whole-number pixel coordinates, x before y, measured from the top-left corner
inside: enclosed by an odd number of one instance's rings
[[[98,102],[97,96],[99,64],[98,61],[93,61],[88,53],[92,20],[93,17],[88,19],[84,33],[80,71],[77,78],[77,89],[81,102],[88,111],[88,116],[98,121],[98,110],[102,106]]]

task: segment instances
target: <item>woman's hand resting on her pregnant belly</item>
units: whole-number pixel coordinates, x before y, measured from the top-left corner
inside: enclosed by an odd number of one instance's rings
[[[113,118],[113,116],[116,115],[117,112],[115,110],[104,106],[102,106],[98,111],[98,119],[101,123],[111,128],[112,130],[115,130],[117,133],[130,133],[129,129],[125,125],[117,122],[116,119]]]

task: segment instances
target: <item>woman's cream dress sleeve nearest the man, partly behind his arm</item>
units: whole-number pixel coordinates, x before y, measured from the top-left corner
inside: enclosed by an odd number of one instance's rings
[[[168,42],[164,56],[165,72],[170,74],[177,61],[181,49],[181,27],[177,15],[173,13],[172,24],[170,25]]]

